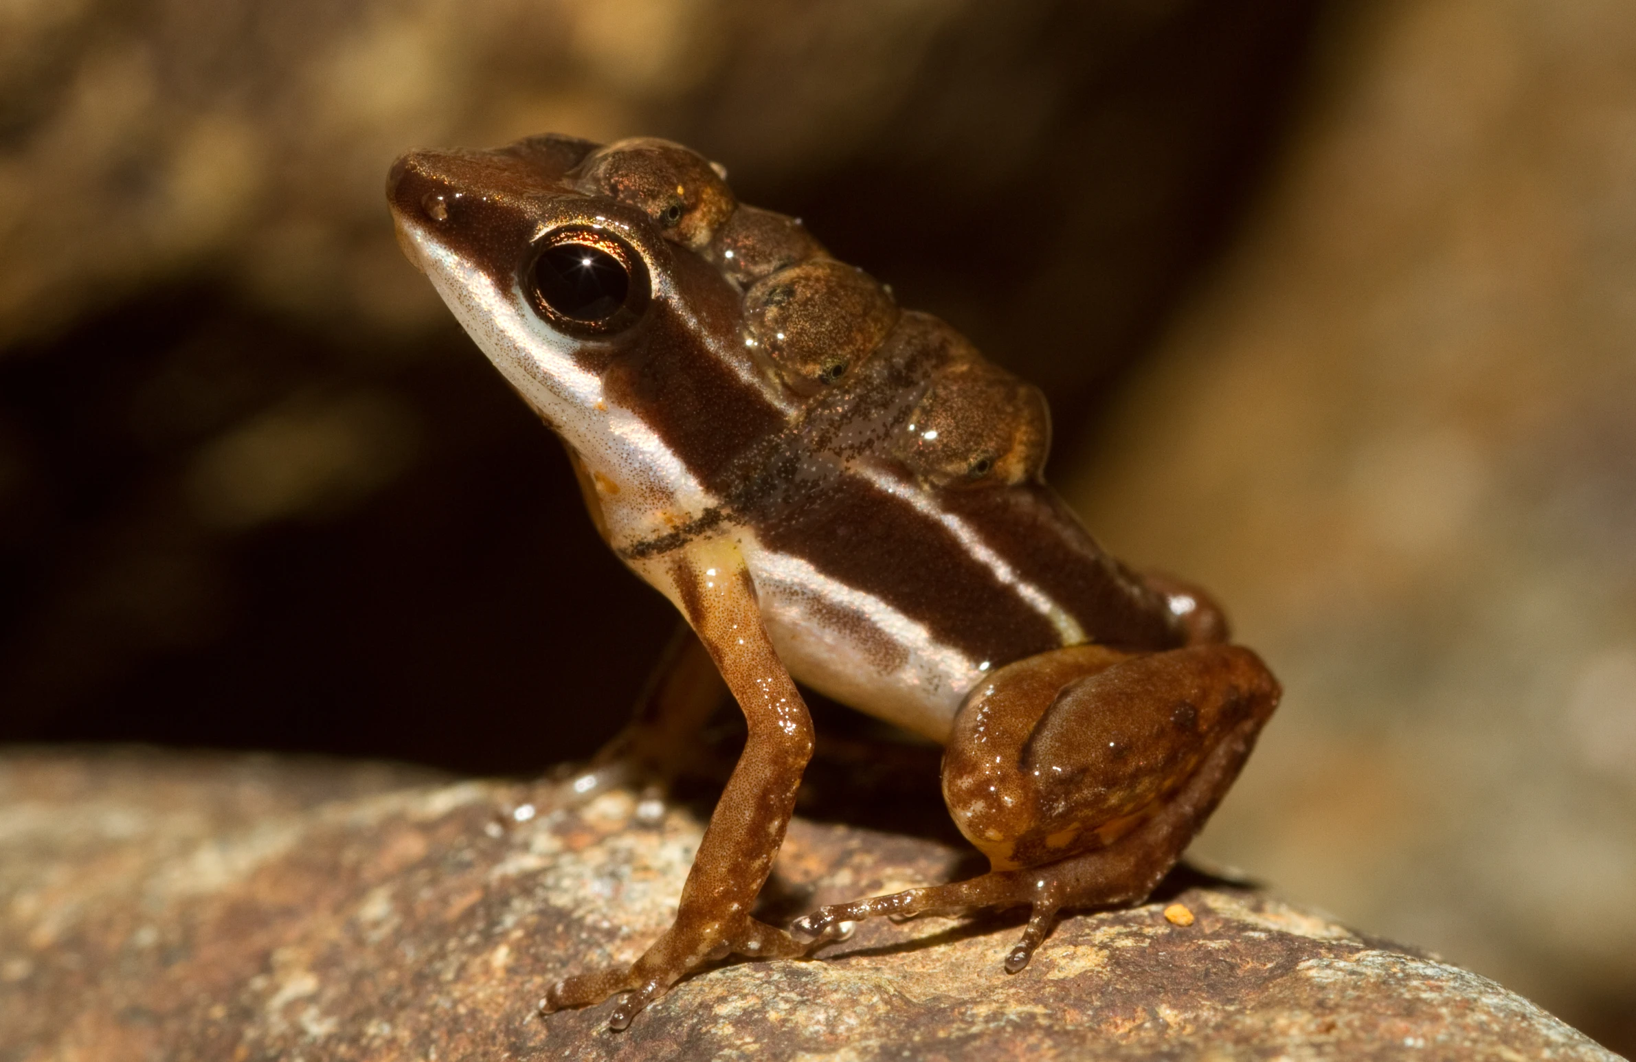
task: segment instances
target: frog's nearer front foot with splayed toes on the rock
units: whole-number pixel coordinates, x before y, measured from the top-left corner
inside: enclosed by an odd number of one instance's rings
[[[738,918],[733,925],[720,921],[684,925],[685,921],[690,920],[677,918],[676,925],[628,967],[609,967],[556,982],[540,1000],[540,1013],[591,1006],[625,993],[609,1016],[609,1028],[623,1029],[643,1008],[669,992],[671,985],[710,962],[728,956],[798,959],[810,951],[784,929],[749,916]]]

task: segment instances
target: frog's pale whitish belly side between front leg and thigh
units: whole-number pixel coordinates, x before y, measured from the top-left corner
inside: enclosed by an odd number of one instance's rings
[[[772,645],[790,674],[828,697],[937,743],[987,669],[879,597],[787,553],[757,551],[751,573]]]

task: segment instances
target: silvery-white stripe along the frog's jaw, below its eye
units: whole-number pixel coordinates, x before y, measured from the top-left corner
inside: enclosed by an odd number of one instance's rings
[[[417,226],[404,227],[432,285],[489,362],[592,465],[602,463],[597,461],[602,457],[618,479],[640,478],[661,486],[682,511],[702,512],[715,504],[651,427],[630,409],[602,401],[602,380],[574,362],[574,342],[535,316],[520,286],[501,291],[488,273],[440,247]],[[586,424],[591,417],[602,422]],[[610,440],[617,443],[609,445]]]

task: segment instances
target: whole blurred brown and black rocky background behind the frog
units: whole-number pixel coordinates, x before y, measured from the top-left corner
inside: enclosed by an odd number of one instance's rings
[[[10,0],[0,740],[528,774],[672,619],[393,242],[656,133],[1040,381],[1288,684],[1198,851],[1636,1051],[1636,20],[1613,0]]]

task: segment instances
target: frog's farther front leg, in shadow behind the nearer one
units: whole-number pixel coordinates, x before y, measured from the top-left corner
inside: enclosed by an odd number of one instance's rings
[[[573,800],[610,789],[640,794],[638,813],[658,818],[676,779],[707,758],[699,731],[728,700],[726,682],[687,623],[681,623],[659,658],[630,723],[578,769],[560,776]]]

